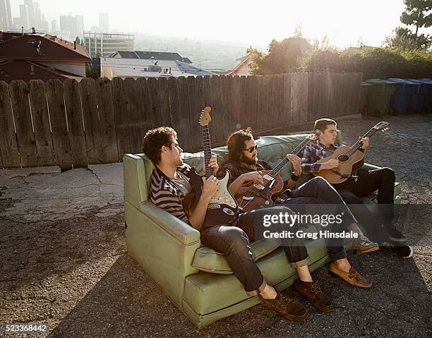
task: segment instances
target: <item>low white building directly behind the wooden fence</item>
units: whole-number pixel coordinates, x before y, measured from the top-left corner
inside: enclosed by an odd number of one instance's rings
[[[119,57],[100,58],[102,78],[171,78],[179,76],[213,76],[214,73],[178,60],[155,60]]]

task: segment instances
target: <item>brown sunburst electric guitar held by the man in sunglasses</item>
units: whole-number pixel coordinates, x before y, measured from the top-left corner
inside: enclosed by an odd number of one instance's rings
[[[305,138],[289,154],[299,154],[310,141],[310,138]],[[240,196],[238,202],[241,212],[255,210],[260,207],[271,207],[273,205],[272,195],[280,193],[284,188],[284,181],[282,181],[280,171],[288,162],[289,159],[285,157],[273,170],[260,171],[261,176],[263,176],[263,184],[253,184],[251,189]]]

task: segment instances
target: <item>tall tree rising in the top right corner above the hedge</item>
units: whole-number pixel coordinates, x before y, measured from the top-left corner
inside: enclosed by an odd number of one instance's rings
[[[411,28],[398,27],[393,30],[392,36],[385,37],[385,47],[400,50],[428,50],[432,45],[432,37],[419,34],[419,28],[428,28],[432,25],[432,0],[404,0],[405,10],[400,16],[400,21],[407,26],[415,26],[415,32]]]

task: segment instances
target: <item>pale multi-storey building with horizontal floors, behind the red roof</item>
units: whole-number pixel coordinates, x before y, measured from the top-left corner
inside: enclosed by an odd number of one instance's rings
[[[90,57],[110,56],[119,50],[132,52],[135,35],[84,32],[83,41]]]

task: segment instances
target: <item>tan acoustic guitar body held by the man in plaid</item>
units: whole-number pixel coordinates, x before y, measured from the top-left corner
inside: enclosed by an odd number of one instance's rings
[[[331,156],[318,161],[318,163],[323,163],[327,162],[329,159],[337,159],[339,161],[339,167],[332,170],[337,171],[339,174],[330,170],[321,170],[318,173],[313,173],[313,175],[323,177],[323,179],[334,186],[343,186],[343,183],[347,181],[349,176],[352,174],[353,169],[359,169],[359,166],[356,166],[356,164],[364,159],[364,152],[361,152],[360,150],[356,150],[351,156],[344,155],[348,150],[348,146],[342,145],[341,147],[338,147]]]

